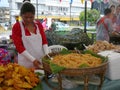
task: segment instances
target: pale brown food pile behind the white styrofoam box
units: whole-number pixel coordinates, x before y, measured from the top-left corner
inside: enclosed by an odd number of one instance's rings
[[[118,49],[118,48],[120,48],[120,46],[116,46],[107,41],[96,41],[93,45],[89,45],[87,47],[87,50],[91,50],[95,53],[98,53],[100,51],[112,50],[112,49]]]

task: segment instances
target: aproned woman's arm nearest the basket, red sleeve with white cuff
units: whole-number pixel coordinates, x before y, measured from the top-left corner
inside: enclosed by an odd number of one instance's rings
[[[39,30],[40,30],[40,34],[42,36],[42,44],[43,44],[44,52],[45,52],[45,54],[48,54],[49,53],[48,42],[47,42],[47,39],[46,39],[46,35],[45,35],[45,32],[44,32],[43,26],[40,22],[37,22],[37,24],[38,24],[38,27],[39,27]]]

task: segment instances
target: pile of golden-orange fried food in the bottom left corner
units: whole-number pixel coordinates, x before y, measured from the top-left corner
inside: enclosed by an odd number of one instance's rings
[[[40,82],[34,70],[10,63],[0,66],[0,90],[31,90]]]

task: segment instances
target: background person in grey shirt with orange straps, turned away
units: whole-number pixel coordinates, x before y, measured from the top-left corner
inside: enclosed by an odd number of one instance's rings
[[[104,11],[104,17],[100,18],[96,24],[96,40],[110,41],[110,34],[116,34],[112,26],[112,13],[110,8]]]

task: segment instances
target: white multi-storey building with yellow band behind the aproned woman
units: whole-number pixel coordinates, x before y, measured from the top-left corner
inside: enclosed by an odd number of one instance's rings
[[[10,6],[10,22],[15,22],[19,16],[23,0],[8,0]],[[80,12],[84,10],[84,3],[81,0],[31,0],[36,8],[36,19],[54,18],[60,21],[79,21]],[[87,7],[91,8],[91,2],[87,1]]]

